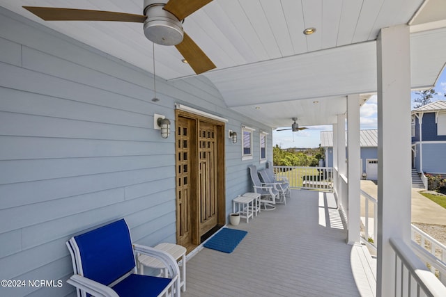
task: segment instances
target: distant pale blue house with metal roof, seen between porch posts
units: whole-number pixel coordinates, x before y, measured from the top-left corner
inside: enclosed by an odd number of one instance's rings
[[[333,131],[321,131],[321,147],[325,147],[325,166],[333,166]],[[378,130],[360,131],[361,177],[378,179]],[[348,158],[348,155],[346,155]]]

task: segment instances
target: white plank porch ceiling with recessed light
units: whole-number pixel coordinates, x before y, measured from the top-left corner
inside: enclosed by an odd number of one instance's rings
[[[22,8],[141,14],[142,3],[3,0],[1,6],[153,72],[152,43],[141,24],[44,22]],[[187,17],[184,28],[217,65],[201,75],[217,86],[227,106],[284,127],[292,117],[300,125],[330,124],[346,111],[346,95],[376,91],[375,40],[383,27],[411,25],[412,86],[433,86],[446,61],[445,16],[444,0],[214,0]],[[307,27],[316,33],[304,35]],[[193,76],[181,58],[175,47],[156,46],[156,74],[167,80]]]

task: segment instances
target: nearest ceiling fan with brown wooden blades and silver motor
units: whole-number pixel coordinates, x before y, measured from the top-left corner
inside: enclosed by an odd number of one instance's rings
[[[195,73],[215,68],[183,30],[185,17],[212,0],[144,0],[144,15],[103,10],[23,6],[45,21],[111,21],[144,23],[144,35],[158,45],[175,45]]]

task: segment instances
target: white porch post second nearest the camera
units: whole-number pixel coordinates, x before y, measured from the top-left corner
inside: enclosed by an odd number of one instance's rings
[[[347,97],[348,234],[347,243],[360,242],[360,96]]]

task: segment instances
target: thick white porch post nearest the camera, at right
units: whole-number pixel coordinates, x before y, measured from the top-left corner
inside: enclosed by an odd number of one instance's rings
[[[410,35],[406,25],[380,30],[378,63],[378,263],[376,296],[394,295],[390,238],[410,246]]]

